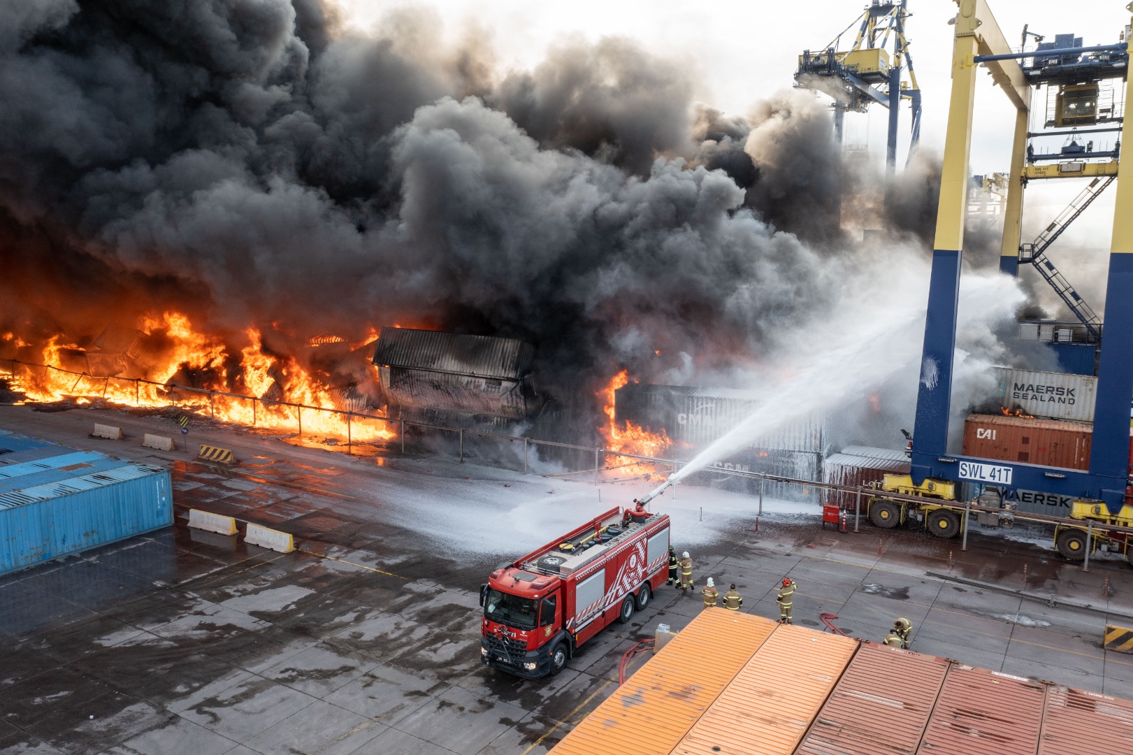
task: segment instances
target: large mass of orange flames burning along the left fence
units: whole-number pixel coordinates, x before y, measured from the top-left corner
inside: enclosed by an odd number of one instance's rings
[[[239,355],[230,355],[223,341],[197,331],[187,316],[177,312],[144,315],[137,330],[145,336],[162,337],[164,347],[160,357],[142,354],[133,358],[127,372],[129,376],[123,373],[111,378],[76,375],[75,372],[80,371],[74,364],[65,364],[65,354],[77,349],[77,346],[66,343],[61,336],[56,336],[43,346],[40,360],[58,370],[24,366],[16,372],[12,388],[25,393],[29,401],[70,398],[78,404],[90,404],[92,399],[101,398],[111,404],[156,408],[176,404],[182,412],[196,412],[221,422],[267,430],[299,432],[301,429],[303,434],[335,439],[349,436],[355,442],[395,436],[382,421],[357,415],[348,419],[341,412],[335,412],[341,407],[331,388],[292,357],[264,354],[261,333],[255,328],[245,331],[248,346],[240,349]],[[372,329],[372,334],[376,337],[376,330]],[[11,333],[2,334],[0,340],[17,347],[28,346]],[[312,343],[313,347],[343,342],[343,339],[333,336],[313,340],[318,340]],[[125,357],[122,364],[127,364]],[[233,380],[229,380],[228,370],[237,364],[239,372],[232,375]],[[205,375],[203,384],[195,390],[167,384],[181,382],[176,376],[182,371]],[[281,402],[301,404],[308,408]]]

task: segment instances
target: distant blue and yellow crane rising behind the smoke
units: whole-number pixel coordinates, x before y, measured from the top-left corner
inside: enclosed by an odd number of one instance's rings
[[[897,161],[897,121],[903,99],[910,101],[912,111],[910,154],[920,139],[921,93],[905,39],[905,19],[911,15],[905,2],[874,0],[825,48],[803,51],[794,75],[795,86],[834,99],[834,135],[840,145],[846,111],[866,112],[875,102],[888,108],[885,164],[889,175]],[[842,36],[854,26],[858,35],[853,43],[840,50]],[[892,45],[892,52],[887,45]],[[906,71],[908,80],[903,82]]]

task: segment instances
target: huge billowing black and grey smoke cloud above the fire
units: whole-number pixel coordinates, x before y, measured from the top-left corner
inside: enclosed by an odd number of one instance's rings
[[[533,342],[569,396],[758,359],[829,306],[813,97],[729,120],[624,40],[501,74],[479,29],[361,35],[315,0],[14,0],[0,25],[0,328],[25,340],[164,308],[300,340],[429,323]]]

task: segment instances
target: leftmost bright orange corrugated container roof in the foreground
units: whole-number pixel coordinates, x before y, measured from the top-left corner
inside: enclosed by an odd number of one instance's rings
[[[747,613],[704,611],[552,752],[672,752],[777,626]]]

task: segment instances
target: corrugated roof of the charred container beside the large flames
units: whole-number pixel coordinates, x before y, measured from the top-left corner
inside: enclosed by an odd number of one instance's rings
[[[531,371],[535,349],[513,338],[462,336],[411,328],[383,328],[374,364],[455,375],[520,380]]]

